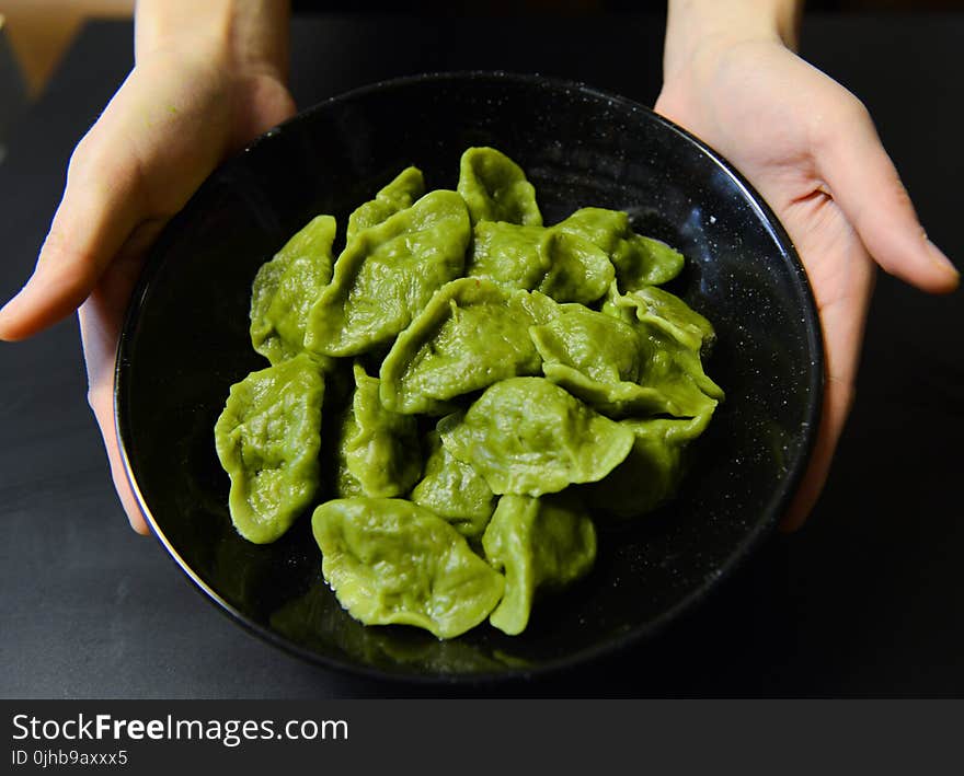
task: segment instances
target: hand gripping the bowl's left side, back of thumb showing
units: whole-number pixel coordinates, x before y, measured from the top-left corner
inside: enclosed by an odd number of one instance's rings
[[[23,339],[79,308],[88,401],[124,510],[147,533],[113,412],[117,340],[144,253],[228,154],[295,106],[277,58],[245,56],[237,25],[230,40],[195,35],[148,45],[141,34],[134,70],[71,157],[36,269],[0,311],[0,338]]]

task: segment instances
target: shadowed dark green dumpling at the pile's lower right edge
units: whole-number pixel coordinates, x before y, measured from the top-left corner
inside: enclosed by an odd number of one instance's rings
[[[684,453],[713,415],[695,418],[622,420],[633,432],[633,449],[605,479],[587,486],[593,503],[618,518],[635,518],[668,501],[685,471]]]

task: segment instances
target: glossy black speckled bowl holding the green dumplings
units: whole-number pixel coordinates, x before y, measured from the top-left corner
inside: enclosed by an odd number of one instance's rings
[[[229,386],[265,362],[248,310],[257,268],[310,217],[340,224],[408,164],[454,187],[461,152],[520,163],[547,223],[582,206],[627,210],[687,256],[673,290],[715,325],[708,373],[726,402],[679,497],[600,532],[592,575],[507,637],[487,624],[441,642],[367,628],[322,584],[303,516],[256,546],[233,530],[213,428]],[[324,665],[443,680],[529,675],[656,633],[777,523],[810,454],[822,344],[804,271],[759,196],[718,154],[647,108],[539,77],[410,78],[322,103],[217,170],[170,223],[135,292],[116,372],[127,472],[151,528],[237,622]]]

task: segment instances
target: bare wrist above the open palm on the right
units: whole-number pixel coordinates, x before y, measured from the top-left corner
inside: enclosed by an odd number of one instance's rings
[[[664,80],[695,60],[744,44],[773,44],[795,51],[801,0],[669,0]]]

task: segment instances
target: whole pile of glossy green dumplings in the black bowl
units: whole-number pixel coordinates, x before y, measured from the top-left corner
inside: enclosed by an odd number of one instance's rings
[[[664,503],[723,392],[713,328],[658,288],[684,257],[624,212],[546,227],[523,170],[462,154],[457,190],[404,170],[266,264],[251,341],[271,362],[215,427],[251,542],[314,506],[322,574],[368,625],[506,634],[585,576],[589,517]],[[320,505],[320,506],[319,506]]]

